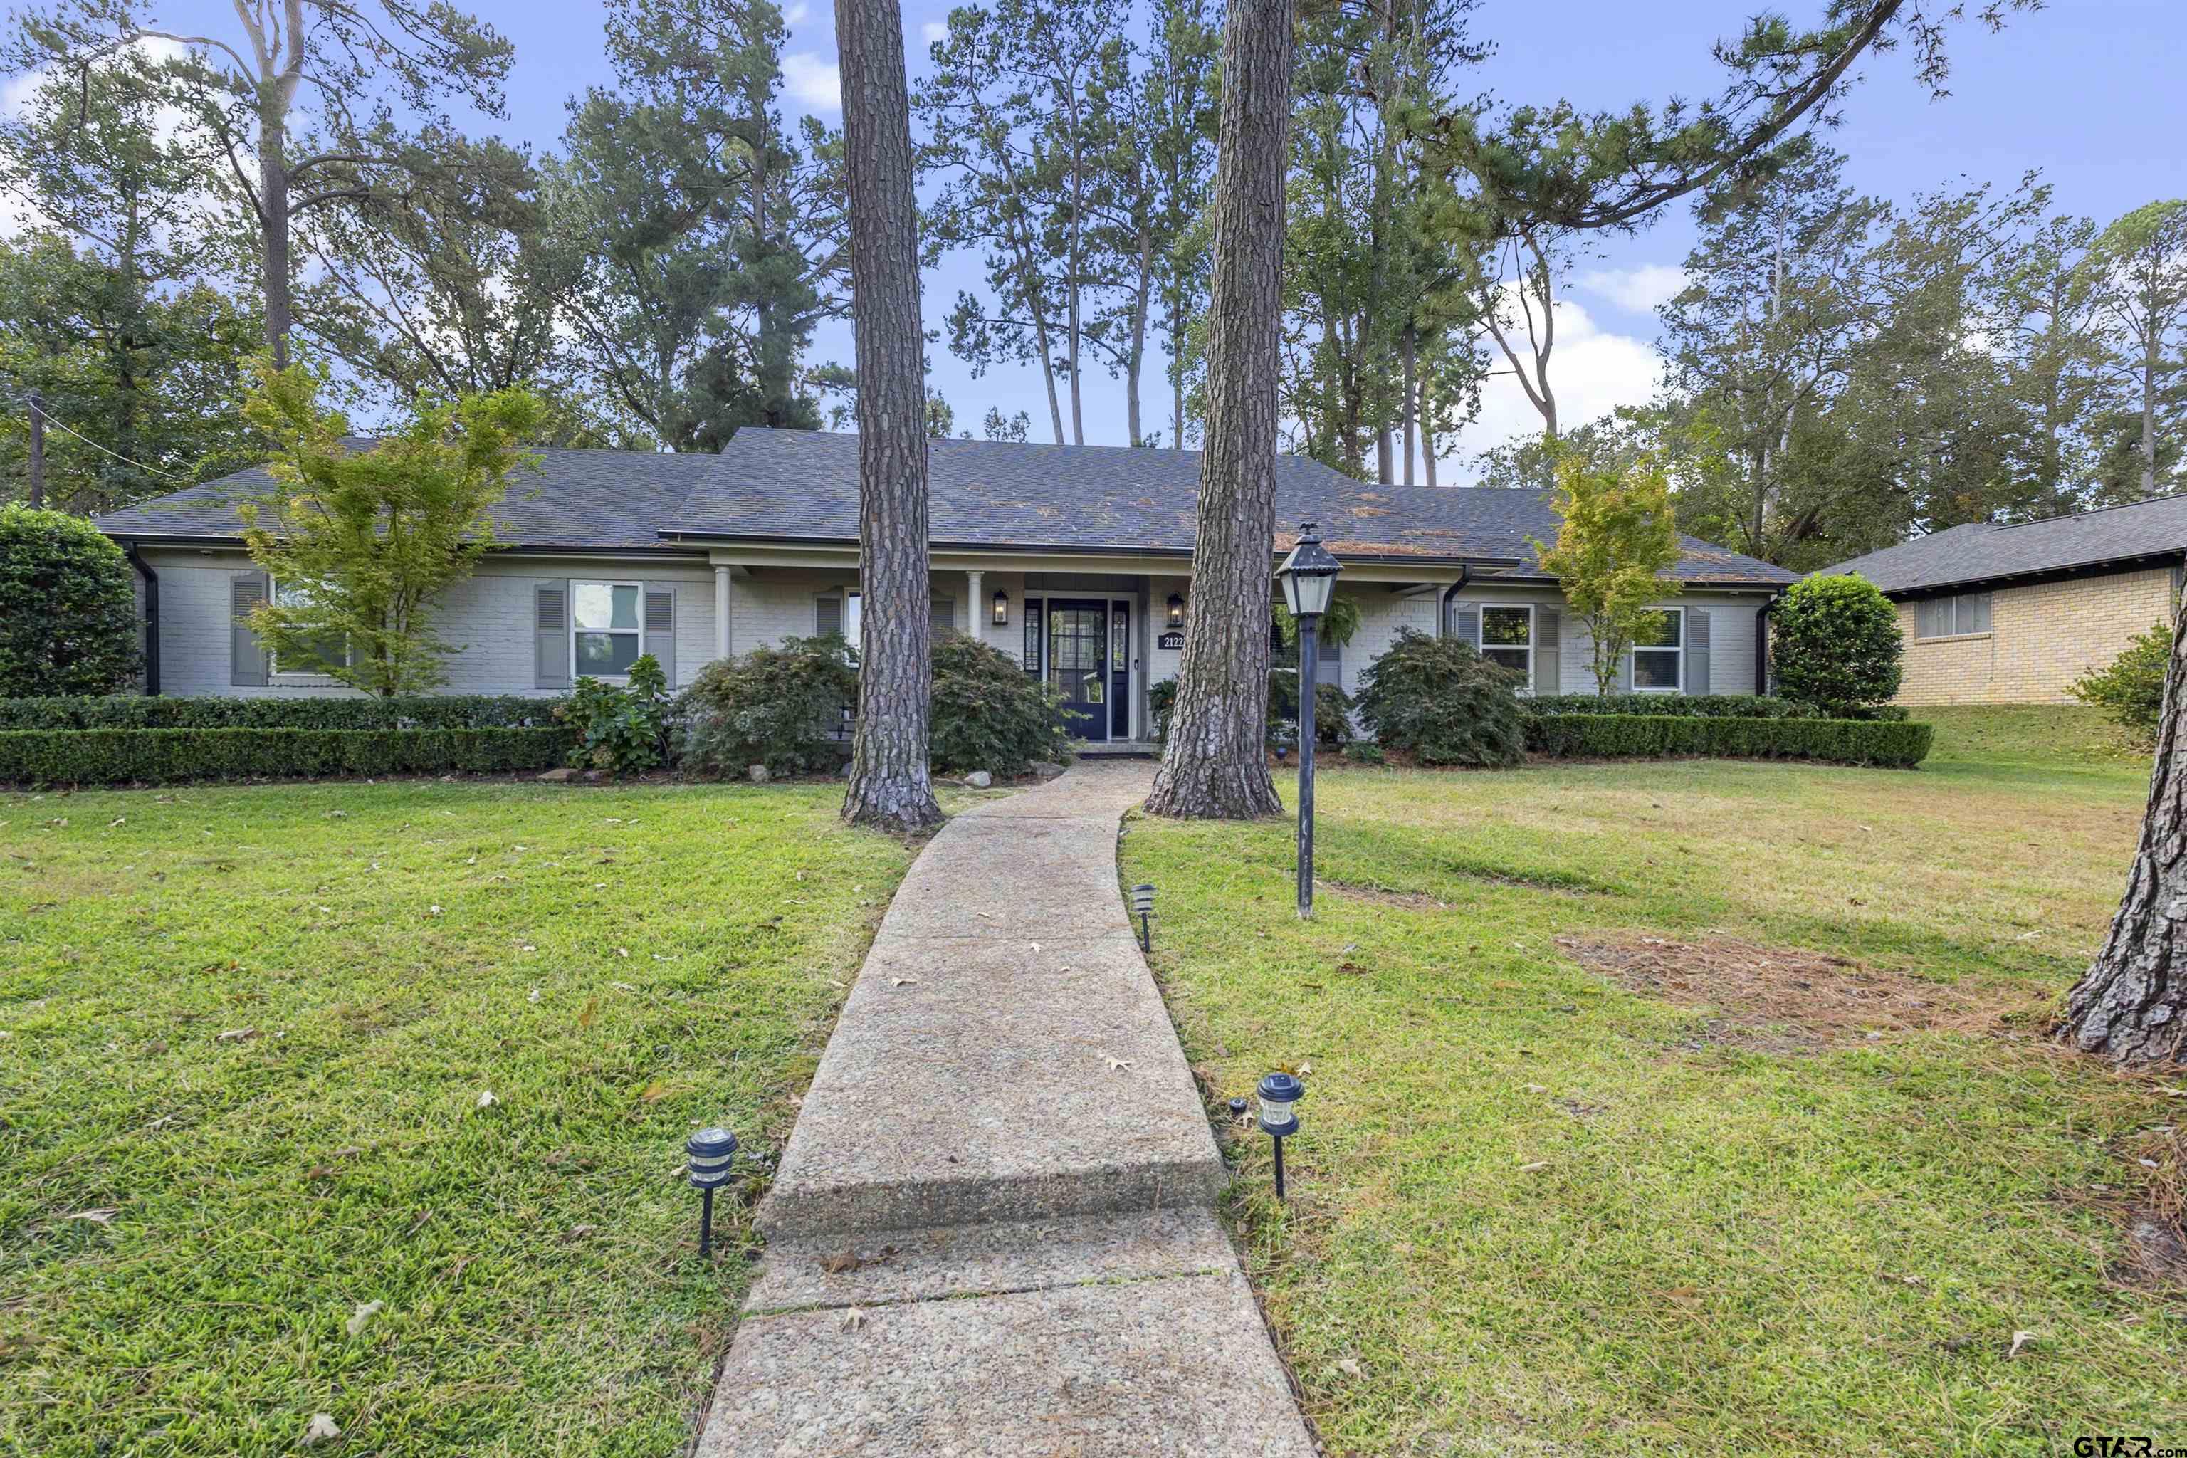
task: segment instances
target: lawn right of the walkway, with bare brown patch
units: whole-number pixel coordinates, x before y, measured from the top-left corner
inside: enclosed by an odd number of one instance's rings
[[[2040,1014],[1726,1045],[1555,940],[1721,933],[2045,1006],[2145,769],[2075,710],[1935,719],[1918,772],[1341,767],[1314,922],[1286,822],[1133,822],[1207,1093],[1310,1067],[1295,1200],[1255,1137],[1231,1215],[1332,1454],[2187,1443],[2187,1303],[2110,1277],[2119,1213],[2178,1178],[2156,1080]]]

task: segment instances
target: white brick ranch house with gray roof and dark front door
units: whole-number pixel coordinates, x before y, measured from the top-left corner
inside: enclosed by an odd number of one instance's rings
[[[857,437],[746,426],[717,457],[547,450],[496,512],[503,546],[442,603],[451,693],[562,693],[652,651],[671,682],[785,636],[855,638]],[[932,442],[936,623],[1052,680],[1089,741],[1148,734],[1146,691],[1177,673],[1192,590],[1198,455]],[[348,693],[269,662],[238,614],[273,584],[234,516],[265,472],[98,520],[138,564],[153,693]],[[1345,562],[1360,632],[1323,678],[1358,689],[1397,634],[1459,634],[1537,693],[1592,693],[1588,645],[1533,566],[1555,512],[1537,492],[1369,485],[1303,457],[1277,470],[1271,568],[1299,522]],[[1636,693],[1754,693],[1761,610],[1791,581],[1686,540],[1660,643],[1621,665]]]

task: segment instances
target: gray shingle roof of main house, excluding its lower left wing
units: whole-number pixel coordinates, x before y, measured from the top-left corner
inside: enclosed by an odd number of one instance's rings
[[[936,439],[929,448],[936,546],[1190,553],[1198,509],[1194,450]],[[1338,557],[1533,562],[1553,540],[1540,492],[1373,485],[1286,455],[1275,470],[1277,540],[1310,520]],[[700,540],[855,542],[857,437],[737,431],[667,522]],[[1688,581],[1785,584],[1793,575],[1686,538]]]

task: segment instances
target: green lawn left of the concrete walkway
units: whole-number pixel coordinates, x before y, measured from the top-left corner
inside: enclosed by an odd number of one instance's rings
[[[779,1148],[912,855],[838,800],[0,796],[0,1451],[676,1451],[682,1141]]]

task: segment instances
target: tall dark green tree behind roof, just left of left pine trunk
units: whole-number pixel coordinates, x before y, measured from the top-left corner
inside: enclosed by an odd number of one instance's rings
[[[571,103],[542,192],[575,367],[671,450],[816,428],[805,350],[846,308],[842,136],[783,125],[781,11],[619,0],[606,33],[617,85]]]

